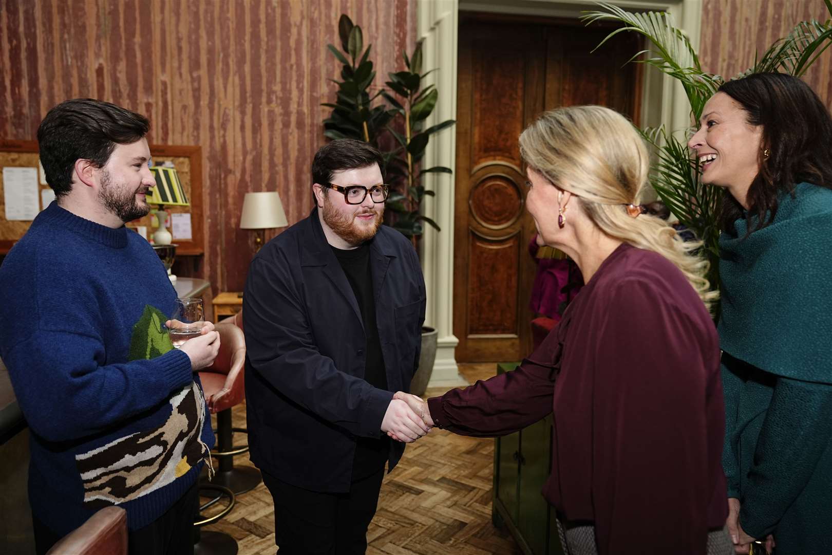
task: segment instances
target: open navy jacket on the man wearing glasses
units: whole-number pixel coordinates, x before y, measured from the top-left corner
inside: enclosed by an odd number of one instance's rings
[[[251,460],[318,492],[349,491],[357,437],[381,437],[394,391],[418,367],[425,290],[413,245],[382,225],[370,242],[376,322],[390,391],[364,381],[358,302],[314,209],[251,261],[243,295]],[[389,469],[404,453],[390,442]]]

